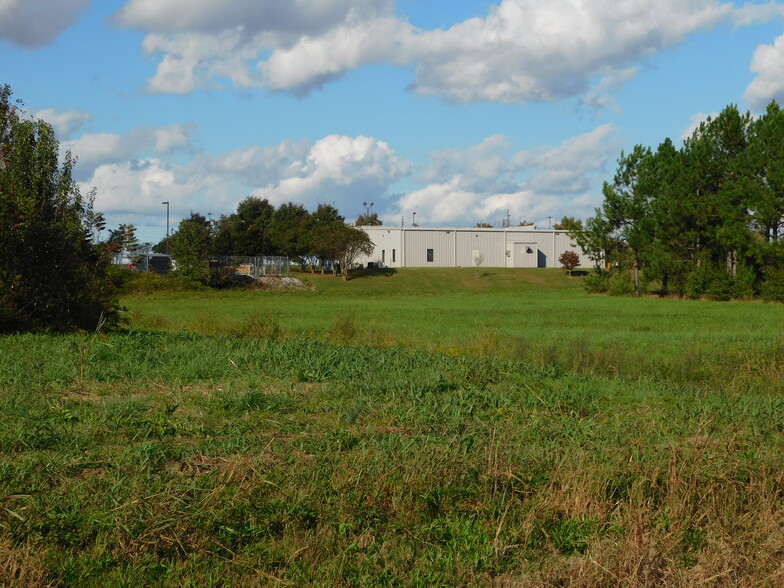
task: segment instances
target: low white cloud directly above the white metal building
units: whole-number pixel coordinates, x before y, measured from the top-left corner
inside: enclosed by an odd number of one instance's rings
[[[507,213],[514,223],[587,216],[618,143],[615,128],[602,125],[537,151],[509,153],[507,140],[494,135],[465,150],[437,152],[419,178],[428,184],[402,196],[386,218],[416,212],[422,223],[470,226]]]

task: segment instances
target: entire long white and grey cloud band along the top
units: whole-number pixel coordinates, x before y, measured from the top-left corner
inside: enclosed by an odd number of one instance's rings
[[[306,94],[372,63],[412,67],[411,89],[461,103],[582,98],[595,108],[653,53],[720,22],[778,17],[779,3],[503,0],[484,18],[416,30],[393,0],[131,0],[121,26],[148,32],[149,88],[188,93],[229,80]]]

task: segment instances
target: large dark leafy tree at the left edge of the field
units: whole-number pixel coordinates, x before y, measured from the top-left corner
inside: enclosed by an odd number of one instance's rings
[[[79,192],[70,152],[60,162],[52,127],[22,119],[11,97],[0,89],[0,331],[116,323],[92,194]]]

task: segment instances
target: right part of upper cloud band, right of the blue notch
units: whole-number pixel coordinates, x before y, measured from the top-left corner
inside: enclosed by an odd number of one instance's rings
[[[413,88],[455,102],[582,95],[596,78],[623,79],[652,53],[715,26],[730,8],[713,0],[504,0],[484,19],[413,38]]]

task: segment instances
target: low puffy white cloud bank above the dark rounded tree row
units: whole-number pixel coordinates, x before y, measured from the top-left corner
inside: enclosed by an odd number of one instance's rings
[[[162,201],[171,203],[175,218],[190,210],[229,214],[239,200],[254,194],[276,205],[295,201],[312,210],[319,202],[334,202],[350,211],[368,198],[381,206],[389,187],[411,168],[384,141],[343,135],[198,152],[176,163],[165,152],[189,145],[187,134],[176,140],[176,130],[88,135],[74,142],[74,153],[91,162],[80,185],[84,191],[97,189],[97,209],[108,218],[122,215],[136,222],[144,215],[160,217]]]

